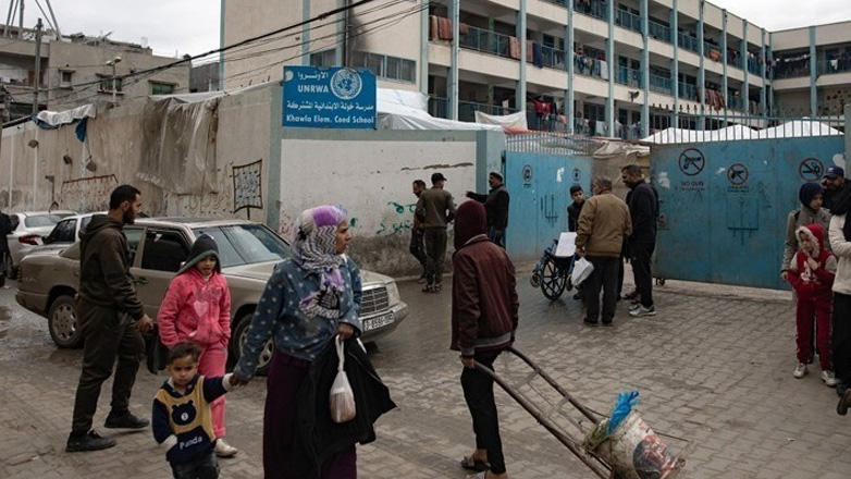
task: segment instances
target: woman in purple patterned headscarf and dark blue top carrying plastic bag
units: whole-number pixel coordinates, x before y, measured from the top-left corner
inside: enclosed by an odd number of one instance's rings
[[[263,415],[263,470],[267,479],[297,478],[292,465],[296,393],[311,361],[333,341],[360,333],[360,271],[343,256],[351,240],[346,212],[334,206],[305,210],[291,231],[293,258],[282,261],[266,284],[243,356],[234,369],[246,383],[267,341],[274,337]],[[357,477],[355,446],[322,465],[317,477]]]

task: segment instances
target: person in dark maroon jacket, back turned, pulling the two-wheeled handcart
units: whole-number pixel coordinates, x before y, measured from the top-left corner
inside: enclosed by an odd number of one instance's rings
[[[476,363],[493,370],[499,353],[514,343],[519,302],[511,260],[488,241],[484,207],[467,201],[455,219],[452,288],[452,344],[460,351],[461,388],[472,416],[476,452],[461,460],[481,469],[490,463],[489,478],[506,478],[493,379]]]

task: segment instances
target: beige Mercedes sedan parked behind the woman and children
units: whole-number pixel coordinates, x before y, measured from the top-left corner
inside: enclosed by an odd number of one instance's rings
[[[244,220],[138,219],[124,226],[124,234],[132,249],[131,275],[136,293],[151,318],[157,317],[169,282],[195,238],[201,234],[215,238],[222,273],[231,290],[231,352],[238,359],[260,294],[275,265],[291,256],[289,245],[266,225]],[[361,275],[361,339],[371,342],[396,329],[407,316],[408,306],[392,278],[366,270]],[[15,299],[47,318],[50,336],[60,347],[83,343],[74,303],[78,285],[78,242],[64,249],[34,251],[21,261]],[[273,351],[270,341],[260,358],[261,371],[268,368]]]

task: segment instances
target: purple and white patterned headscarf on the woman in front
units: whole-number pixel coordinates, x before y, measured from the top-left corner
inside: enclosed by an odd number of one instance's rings
[[[337,226],[347,218],[335,206],[319,206],[301,212],[293,222],[291,244],[295,261],[306,271],[319,275],[319,291],[303,297],[299,308],[309,318],[340,318],[340,297],[345,290],[340,267],[344,259],[336,254]]]

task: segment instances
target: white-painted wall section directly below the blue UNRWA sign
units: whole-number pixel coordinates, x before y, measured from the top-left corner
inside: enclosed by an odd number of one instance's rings
[[[504,148],[504,136],[489,132],[280,132],[278,231],[288,236],[293,219],[307,208],[341,205],[355,235],[353,258],[397,275],[419,268],[408,253],[417,202],[411,183],[430,186],[431,174],[441,172],[459,205],[466,191],[486,191],[486,171],[499,169]]]

